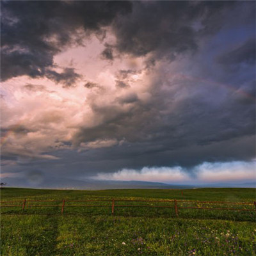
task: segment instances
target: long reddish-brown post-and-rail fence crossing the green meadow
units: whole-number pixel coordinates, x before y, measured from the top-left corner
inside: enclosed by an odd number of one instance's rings
[[[232,207],[230,207],[232,206]],[[114,215],[116,208],[132,207],[140,208],[171,208],[175,215],[186,209],[210,210],[210,211],[254,211],[256,213],[256,202],[218,202],[218,201],[189,201],[189,200],[131,200],[116,199],[111,200],[20,200],[20,201],[1,201],[0,207],[20,208],[22,212],[33,207],[58,207],[61,214],[64,214],[67,207],[109,207],[111,214]],[[74,209],[74,208],[73,208]],[[136,210],[135,210],[136,211]]]

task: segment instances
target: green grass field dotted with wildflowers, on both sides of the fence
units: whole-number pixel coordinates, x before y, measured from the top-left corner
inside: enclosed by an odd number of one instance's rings
[[[1,200],[253,202],[256,189],[66,191],[5,188]],[[251,205],[250,205],[251,207]],[[135,210],[136,209],[136,210]],[[1,209],[1,255],[256,255],[256,212],[127,207]]]

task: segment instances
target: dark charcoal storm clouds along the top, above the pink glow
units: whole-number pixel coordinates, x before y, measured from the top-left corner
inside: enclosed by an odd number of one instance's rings
[[[81,29],[104,38],[103,27],[113,21],[118,51],[136,56],[156,51],[161,56],[167,54],[174,58],[177,52],[196,49],[198,31],[193,22],[200,21],[203,28],[210,30],[212,16],[223,6],[232,4],[1,1],[1,79],[48,74],[55,81],[60,80],[65,75],[51,70],[53,56],[70,44],[81,44],[84,36]],[[106,45],[102,56],[113,60],[113,46]]]

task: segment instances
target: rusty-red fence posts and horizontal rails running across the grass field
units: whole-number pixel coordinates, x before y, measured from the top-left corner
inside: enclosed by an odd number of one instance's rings
[[[30,202],[60,202],[60,205],[36,205],[32,204],[30,205]],[[91,204],[91,205],[67,205],[66,203],[69,202],[109,202],[111,204],[109,205],[97,205],[97,204]],[[116,202],[174,202],[174,206],[170,205],[116,205]],[[20,203],[20,205],[13,205],[13,203]],[[61,204],[62,203],[62,204]],[[178,203],[196,203],[196,204],[233,204],[233,205],[254,205],[255,209],[237,209],[237,208],[227,208],[227,207],[183,207],[183,205],[178,205]],[[28,207],[61,207],[61,214],[63,214],[65,207],[111,207],[111,214],[114,214],[115,207],[154,207],[154,208],[174,208],[175,214],[178,217],[179,216],[179,209],[206,209],[206,210],[233,210],[233,211],[255,211],[256,212],[256,202],[218,202],[218,201],[186,201],[186,200],[131,200],[131,199],[111,199],[111,200],[26,200],[23,201],[1,201],[0,207],[22,207],[22,211],[25,210],[25,208]],[[9,205],[2,205],[2,204],[9,204]]]

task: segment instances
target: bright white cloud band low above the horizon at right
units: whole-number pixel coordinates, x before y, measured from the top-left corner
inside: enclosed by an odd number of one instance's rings
[[[255,162],[204,162],[195,166],[190,172],[181,166],[143,167],[141,170],[123,169],[115,173],[98,173],[92,178],[97,180],[141,180],[167,184],[241,183],[255,181],[255,167]]]

